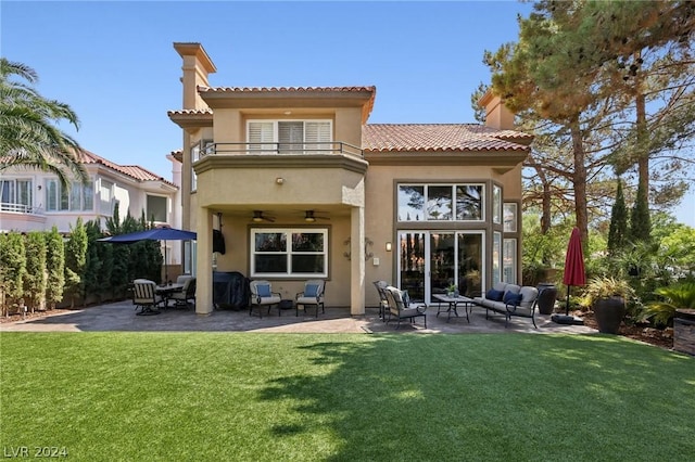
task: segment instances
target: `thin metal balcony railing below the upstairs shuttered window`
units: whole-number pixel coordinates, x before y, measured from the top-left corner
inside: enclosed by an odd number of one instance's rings
[[[364,158],[361,147],[342,142],[264,142],[208,143],[201,150],[205,155],[326,155],[338,154]]]

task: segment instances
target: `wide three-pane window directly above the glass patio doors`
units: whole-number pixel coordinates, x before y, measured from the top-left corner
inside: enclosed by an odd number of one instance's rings
[[[480,221],[482,184],[399,184],[399,221]]]

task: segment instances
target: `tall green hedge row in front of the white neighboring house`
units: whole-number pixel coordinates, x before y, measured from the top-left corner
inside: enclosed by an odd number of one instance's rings
[[[147,226],[126,217],[127,231]],[[122,232],[111,233],[121,234]],[[159,243],[113,245],[98,221],[77,220],[67,235],[49,232],[0,233],[0,307],[2,316],[125,299],[128,283],[142,274],[160,281]],[[140,251],[132,252],[131,247]],[[146,257],[146,258],[143,258]]]

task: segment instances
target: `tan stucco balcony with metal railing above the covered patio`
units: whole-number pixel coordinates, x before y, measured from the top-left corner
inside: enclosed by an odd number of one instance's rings
[[[369,164],[344,142],[208,143],[193,163],[197,206],[359,205]]]

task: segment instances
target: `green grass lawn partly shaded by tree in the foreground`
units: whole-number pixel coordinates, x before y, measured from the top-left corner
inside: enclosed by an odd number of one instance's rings
[[[623,337],[2,333],[0,445],[70,460],[695,454],[695,358]]]

